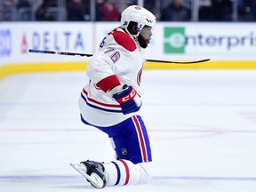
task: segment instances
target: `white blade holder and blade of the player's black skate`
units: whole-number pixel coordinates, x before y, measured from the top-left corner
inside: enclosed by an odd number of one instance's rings
[[[101,180],[100,176],[97,175],[95,172],[92,172],[91,175],[88,175],[86,173],[87,169],[85,166],[81,164],[70,164],[71,167],[73,167],[76,172],[79,172],[84,176],[86,180],[88,180],[94,188],[103,188],[104,187],[104,182]]]

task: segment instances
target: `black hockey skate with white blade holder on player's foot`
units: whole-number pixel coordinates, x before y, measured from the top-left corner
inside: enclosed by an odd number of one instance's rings
[[[70,164],[77,172],[82,174],[94,188],[104,188],[106,178],[104,175],[104,166],[100,162],[85,161],[80,164]]]

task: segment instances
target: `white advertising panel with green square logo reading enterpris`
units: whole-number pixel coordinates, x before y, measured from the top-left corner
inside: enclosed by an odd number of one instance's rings
[[[256,60],[252,23],[159,23],[149,52],[163,58]]]

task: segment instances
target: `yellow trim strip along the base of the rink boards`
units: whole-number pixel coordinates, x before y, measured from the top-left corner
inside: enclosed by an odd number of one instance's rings
[[[0,78],[29,73],[85,71],[86,67],[87,61],[8,64],[0,67]],[[146,62],[144,69],[256,69],[256,60],[210,60],[197,64]]]

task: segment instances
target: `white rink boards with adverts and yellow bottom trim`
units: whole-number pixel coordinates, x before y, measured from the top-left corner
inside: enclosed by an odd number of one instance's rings
[[[85,70],[88,57],[36,54],[28,49],[92,54],[116,26],[118,22],[2,22],[0,76]],[[146,62],[144,68],[252,69],[255,48],[254,23],[158,22],[146,59],[211,60],[188,65]]]

